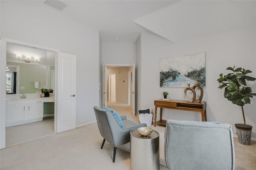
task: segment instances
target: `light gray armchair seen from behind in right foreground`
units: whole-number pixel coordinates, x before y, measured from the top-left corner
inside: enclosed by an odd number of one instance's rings
[[[232,126],[167,120],[164,152],[171,170],[234,170]]]

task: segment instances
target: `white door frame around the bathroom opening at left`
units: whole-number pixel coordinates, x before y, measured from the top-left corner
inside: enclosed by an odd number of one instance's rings
[[[1,38],[1,46],[2,46],[2,43],[4,42],[4,45],[5,45],[5,55],[4,55],[4,51],[1,50],[1,56],[0,56],[0,63],[1,63],[1,75],[6,74],[6,43],[11,43],[11,44],[15,44],[15,45],[21,45],[21,46],[25,46],[25,47],[32,47],[32,48],[35,48],[35,49],[41,49],[41,50],[45,50],[45,51],[51,51],[51,52],[54,52],[55,53],[55,70],[58,69],[57,68],[57,64],[56,62],[58,61],[58,53],[60,52],[58,49],[53,49],[53,48],[50,48],[50,47],[44,47],[44,46],[41,46],[41,45],[35,45],[35,44],[31,44],[31,43],[26,43],[26,42],[23,42],[23,41],[17,41],[17,40],[14,40],[14,39],[8,39],[8,38],[4,38],[2,37]],[[5,58],[5,59],[4,59]],[[2,65],[4,67],[2,67]],[[55,78],[57,77],[57,71],[55,71]],[[55,83],[55,89],[57,89],[57,84],[58,82],[56,81]],[[6,87],[6,82],[0,81],[0,92],[3,93],[4,91],[4,88]],[[1,94],[1,96],[4,96],[3,98],[0,98],[0,103],[1,103],[1,113],[6,113],[6,108],[3,107],[2,103],[4,103],[4,106],[5,106],[5,103],[6,103],[6,93],[4,95]],[[3,101],[4,100],[4,101]],[[54,98],[54,133],[56,133],[56,113],[57,113],[57,107],[56,107],[56,103],[57,103],[57,93],[55,93],[55,98]],[[6,126],[6,114],[1,114],[1,120],[0,120],[0,128],[1,128],[1,131],[0,131],[0,138],[1,138],[1,141],[0,141],[0,149],[3,149],[6,147],[6,144],[5,144],[5,140],[6,140],[6,134],[5,134],[5,126]],[[3,130],[4,128],[4,130]]]

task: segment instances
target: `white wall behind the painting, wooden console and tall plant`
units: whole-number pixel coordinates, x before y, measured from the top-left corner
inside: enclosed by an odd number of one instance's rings
[[[224,89],[218,89],[217,79],[220,73],[227,74],[228,66],[238,66],[252,70],[249,76],[256,77],[256,28],[246,27],[230,30],[215,35],[184,41],[182,43],[171,43],[151,33],[141,34],[141,65],[140,53],[137,49],[136,64],[140,66],[141,77],[140,98],[137,103],[141,107],[150,106],[154,108],[154,100],[162,98],[162,92],[167,91],[170,99],[184,100],[184,88],[160,88],[159,82],[159,59],[177,55],[206,52],[206,88],[204,98],[207,102],[207,120],[219,121],[233,125],[243,123],[242,110],[224,98]],[[136,45],[139,47],[138,39]],[[139,73],[139,72],[138,72]],[[138,78],[138,76],[137,76]],[[256,92],[255,82],[250,82],[253,92]],[[138,91],[138,90],[137,90]],[[244,106],[246,124],[252,125],[252,138],[256,138],[256,97],[251,99],[251,104]],[[159,115],[159,114],[158,114]],[[158,116],[159,117],[159,116]],[[195,120],[200,121],[201,115],[196,112],[163,109],[163,119]]]

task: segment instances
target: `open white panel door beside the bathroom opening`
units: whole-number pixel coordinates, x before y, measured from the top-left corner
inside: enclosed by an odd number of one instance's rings
[[[58,53],[57,125],[60,133],[76,128],[76,56]]]

